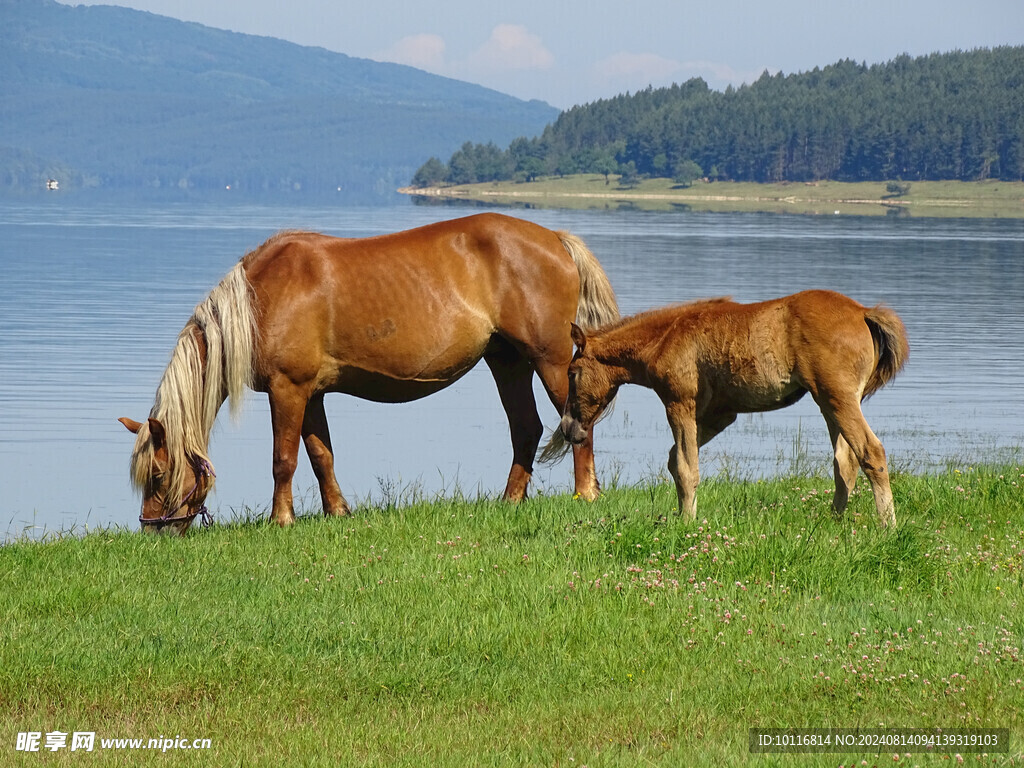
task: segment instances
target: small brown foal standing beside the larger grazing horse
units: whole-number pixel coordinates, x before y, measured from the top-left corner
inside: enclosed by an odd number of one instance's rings
[[[895,524],[886,452],[860,410],[907,358],[906,331],[891,309],[868,309],[829,291],[759,304],[713,299],[644,312],[589,336],[573,327],[572,340],[569,398],[556,437],[589,440],[620,386],[650,387],[668,412],[675,439],[669,471],[686,519],[696,517],[697,449],[737,414],[785,408],[810,392],[831,437],[837,514],[859,465],[879,522]],[[558,443],[553,438],[545,457]]]

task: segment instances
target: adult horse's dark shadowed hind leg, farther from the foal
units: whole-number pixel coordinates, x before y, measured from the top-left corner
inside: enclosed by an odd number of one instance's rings
[[[512,469],[504,498],[518,502],[526,498],[526,485],[534,473],[534,457],[544,435],[534,398],[534,369],[511,346],[488,353],[483,359],[495,377],[512,435]]]

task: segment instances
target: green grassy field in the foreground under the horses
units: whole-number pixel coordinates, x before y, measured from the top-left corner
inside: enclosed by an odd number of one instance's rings
[[[956,765],[748,743],[943,726],[1009,728],[961,757],[1021,765],[1024,468],[897,474],[888,532],[860,482],[839,521],[824,477],[710,479],[693,524],[651,485],[14,543],[0,764]],[[15,751],[30,731],[95,749]]]

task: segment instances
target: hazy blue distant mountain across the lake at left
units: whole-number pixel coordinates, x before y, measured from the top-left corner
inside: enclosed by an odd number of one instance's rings
[[[385,200],[558,116],[480,86],[114,6],[0,0],[0,195]],[[339,187],[341,189],[339,194]]]

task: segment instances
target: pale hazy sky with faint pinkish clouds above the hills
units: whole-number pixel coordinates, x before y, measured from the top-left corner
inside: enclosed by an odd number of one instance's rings
[[[68,4],[75,2],[66,0]],[[82,3],[85,5],[97,2]],[[1022,0],[105,0],[566,109],[702,77],[1024,44]]]

